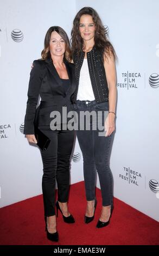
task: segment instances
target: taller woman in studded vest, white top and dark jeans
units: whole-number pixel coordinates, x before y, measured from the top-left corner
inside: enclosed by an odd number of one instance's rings
[[[84,159],[84,180],[87,199],[85,223],[93,221],[97,200],[95,196],[96,175],[98,172],[102,209],[97,228],[105,227],[110,222],[113,209],[112,173],[109,166],[111,145],[115,131],[116,117],[116,66],[115,50],[107,39],[96,10],[82,8],[74,18],[72,28],[72,52],[75,64],[77,89],[74,94],[77,113],[95,112],[103,123],[105,132],[99,136],[99,127],[94,129],[92,119],[90,130],[77,131],[79,145]],[[82,120],[80,118],[80,124]],[[97,171],[96,171],[97,170]]]

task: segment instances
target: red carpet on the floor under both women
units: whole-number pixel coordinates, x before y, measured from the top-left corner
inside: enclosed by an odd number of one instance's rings
[[[1,245],[159,245],[159,223],[114,199],[110,224],[96,229],[100,215],[101,198],[97,188],[97,209],[94,221],[84,223],[86,208],[84,182],[73,184],[69,196],[69,210],[74,224],[63,222],[59,212],[59,242],[46,238],[43,220],[42,196],[1,208]]]

